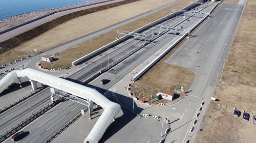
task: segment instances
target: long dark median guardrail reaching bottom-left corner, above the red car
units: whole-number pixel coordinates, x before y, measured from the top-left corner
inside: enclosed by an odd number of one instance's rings
[[[62,101],[62,98],[59,98],[58,100],[54,101],[52,104],[48,104],[48,106],[44,107],[43,109],[40,109],[39,111],[36,111],[33,116],[29,116],[29,118],[26,118],[25,120],[19,122],[15,127],[12,127],[5,133],[0,135],[0,142],[4,141],[6,138],[10,137],[12,134],[16,133],[18,130],[22,129],[23,127],[27,126],[29,123],[43,115],[45,112],[50,110],[52,107],[57,105],[60,101]]]

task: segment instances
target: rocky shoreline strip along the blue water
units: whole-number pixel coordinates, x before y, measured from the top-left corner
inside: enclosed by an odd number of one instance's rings
[[[57,8],[51,8],[47,10],[41,10],[41,11],[35,11],[35,12],[30,12],[30,13],[23,13],[19,15],[14,15],[5,19],[0,19],[0,31],[6,30],[10,27],[16,26],[18,24],[27,22],[29,20],[35,19],[37,17],[49,14],[51,12],[59,11],[59,10],[65,10],[69,8],[76,8],[76,7],[81,7],[81,6],[87,6],[90,4],[94,3],[99,3],[99,2],[105,2],[108,0],[94,0],[90,2],[84,2],[80,4],[74,4],[74,5],[67,5],[63,7],[57,7]]]

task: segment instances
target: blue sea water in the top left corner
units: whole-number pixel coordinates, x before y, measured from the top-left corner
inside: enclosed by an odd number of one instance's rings
[[[0,19],[93,0],[0,0]]]

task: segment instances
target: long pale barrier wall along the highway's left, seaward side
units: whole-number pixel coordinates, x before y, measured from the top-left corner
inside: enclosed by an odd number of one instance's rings
[[[199,0],[199,1],[200,1],[200,0]],[[199,2],[199,1],[198,1],[198,2]],[[182,8],[181,10],[188,10],[188,9],[192,9],[192,8],[194,8],[194,7],[196,7],[196,5],[195,5],[195,4],[191,4],[191,5],[189,5],[189,6],[186,6],[186,7]],[[137,30],[133,31],[133,33],[141,33],[141,32],[143,32],[143,31],[147,30],[148,28],[150,28],[150,27],[152,27],[152,26],[154,26],[154,25],[156,25],[156,24],[159,24],[159,23],[165,21],[165,20],[168,19],[168,18],[173,18],[173,17],[175,17],[176,14],[179,14],[179,12],[175,12],[175,13],[172,13],[172,14],[168,14],[168,15],[166,15],[166,16],[160,18],[160,19],[157,19],[157,20],[155,20],[155,21],[153,21],[153,22],[151,22],[151,23],[149,23],[149,24],[146,24],[146,25],[144,25],[144,26],[138,28]],[[102,47],[100,47],[99,49],[97,49],[97,50],[95,50],[95,51],[93,51],[93,52],[91,52],[91,53],[89,53],[89,54],[87,54],[87,55],[84,55],[84,56],[82,56],[81,58],[79,58],[79,59],[73,61],[73,62],[72,62],[72,65],[75,66],[75,65],[78,65],[78,64],[82,63],[83,61],[89,60],[89,59],[91,59],[93,56],[95,56],[95,55],[97,55],[97,54],[99,54],[99,53],[101,53],[101,52],[107,50],[108,48],[110,48],[110,47],[112,47],[112,46],[115,46],[115,45],[117,45],[117,44],[119,44],[119,43],[121,43],[121,42],[123,42],[123,41],[125,41],[125,40],[127,40],[127,39],[129,39],[129,38],[131,38],[131,37],[132,37],[132,36],[129,36],[129,35],[123,36],[123,37],[121,37],[121,38],[119,38],[119,39],[117,39],[117,40],[115,40],[115,41],[113,41],[113,42],[111,42],[111,43],[109,43],[109,44],[107,44],[107,45],[105,45],[105,46],[102,46]]]

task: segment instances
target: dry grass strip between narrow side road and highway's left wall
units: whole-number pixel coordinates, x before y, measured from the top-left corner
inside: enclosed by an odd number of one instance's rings
[[[114,40],[116,40],[116,31],[117,30],[124,30],[124,31],[134,31],[136,30],[137,28],[143,26],[143,25],[146,25],[152,21],[155,21],[161,17],[164,17],[166,16],[167,14],[170,13],[170,10],[171,9],[181,9],[181,8],[184,8],[185,6],[189,5],[189,0],[185,0],[185,1],[182,1],[181,3],[179,4],[176,4],[174,6],[171,6],[171,7],[168,7],[164,10],[161,10],[159,12],[156,12],[154,14],[151,14],[151,15],[148,15],[148,16],[145,16],[141,19],[138,19],[134,22],[131,22],[129,24],[126,24],[124,26],[121,26],[115,30],[112,30],[108,33],[105,33],[105,34],[102,34],[96,38],[93,38],[91,40],[88,40],[86,42],[83,42],[81,44],[78,44],[78,45],[75,45],[67,50],[64,50],[62,52],[59,52],[59,60],[58,61],[55,61],[53,62],[53,67],[54,68],[64,68],[64,67],[67,67],[67,66],[71,66],[72,65],[72,62],[74,60],[71,60],[71,59],[78,59],[80,57],[82,57],[83,55],[86,55]],[[68,60],[69,59],[69,60]],[[68,62],[68,63],[66,63]],[[61,65],[63,65],[61,67]]]

